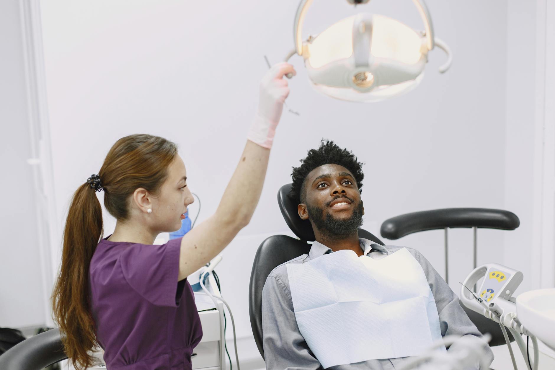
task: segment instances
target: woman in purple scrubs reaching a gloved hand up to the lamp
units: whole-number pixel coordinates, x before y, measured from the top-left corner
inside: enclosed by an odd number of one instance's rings
[[[191,369],[202,329],[186,277],[220,253],[253,215],[289,94],[287,73],[295,74],[294,68],[279,63],[262,79],[258,113],[218,209],[183,238],[153,245],[159,233],[181,227],[194,201],[176,145],[164,138],[119,139],[98,175],[74,193],[53,311],[75,368],[93,365],[89,351],[98,344],[108,369]],[[97,191],[104,191],[104,206],[117,219],[104,239]]]

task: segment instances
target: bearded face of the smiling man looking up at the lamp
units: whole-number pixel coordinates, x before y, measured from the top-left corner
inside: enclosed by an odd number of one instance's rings
[[[364,206],[352,173],[339,164],[325,164],[306,177],[305,203],[297,210],[312,227],[333,235],[350,234],[362,225]]]

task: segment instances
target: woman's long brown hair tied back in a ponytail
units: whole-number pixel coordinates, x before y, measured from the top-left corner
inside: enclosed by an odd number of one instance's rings
[[[119,139],[98,174],[107,211],[118,221],[128,219],[131,194],[139,187],[157,194],[176,154],[176,145],[161,137],[135,134]],[[95,190],[84,183],[69,206],[62,267],[52,294],[64,351],[76,369],[91,367],[95,361],[89,353],[98,344],[89,304],[89,264],[102,233],[102,207]]]

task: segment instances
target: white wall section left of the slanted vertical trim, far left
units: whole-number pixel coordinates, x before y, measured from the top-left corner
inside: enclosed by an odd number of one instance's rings
[[[22,31],[19,2],[0,2],[0,327],[43,326],[47,316]]]

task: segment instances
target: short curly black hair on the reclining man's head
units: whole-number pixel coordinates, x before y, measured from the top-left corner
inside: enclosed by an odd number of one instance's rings
[[[359,191],[362,188],[362,163],[357,161],[355,154],[347,149],[341,149],[334,142],[322,139],[318,149],[310,149],[305,159],[301,159],[302,163],[299,167],[293,167],[291,178],[293,184],[289,197],[297,204],[304,203],[305,197],[305,179],[306,176],[316,167],[324,166],[324,164],[339,164],[345,167],[355,177]]]

